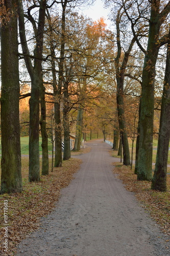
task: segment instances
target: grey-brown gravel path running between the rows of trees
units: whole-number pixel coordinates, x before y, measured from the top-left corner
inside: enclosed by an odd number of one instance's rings
[[[168,238],[112,173],[110,146],[101,140],[88,145],[91,152],[77,156],[83,163],[75,179],[16,255],[170,255]]]

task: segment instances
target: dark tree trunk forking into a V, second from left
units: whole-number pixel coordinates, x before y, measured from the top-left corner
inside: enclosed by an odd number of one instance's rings
[[[40,165],[39,165],[39,100],[42,81],[42,51],[43,51],[43,33],[45,24],[45,9],[46,0],[40,0],[38,26],[34,23],[34,32],[36,39],[36,47],[34,49],[34,67],[30,58],[30,53],[27,45],[25,20],[23,14],[22,1],[19,0],[18,18],[19,18],[19,35],[24,54],[26,66],[31,77],[31,98],[30,105],[30,129],[29,129],[29,181],[40,180]]]

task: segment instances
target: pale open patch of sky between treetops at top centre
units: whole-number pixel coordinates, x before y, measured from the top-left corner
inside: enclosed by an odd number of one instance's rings
[[[110,20],[107,15],[109,14],[109,9],[104,8],[104,3],[101,0],[96,0],[93,5],[88,5],[87,7],[81,7],[81,11],[87,17],[92,18],[93,20],[98,20],[101,17],[104,17],[105,23],[109,26]]]

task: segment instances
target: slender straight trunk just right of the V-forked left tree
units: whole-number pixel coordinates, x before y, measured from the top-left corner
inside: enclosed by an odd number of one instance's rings
[[[48,135],[46,133],[46,105],[45,105],[45,88],[43,87],[43,81],[41,82],[41,94],[40,94],[40,105],[41,105],[41,138],[42,138],[42,175],[48,175],[49,173],[49,161],[48,161]]]

